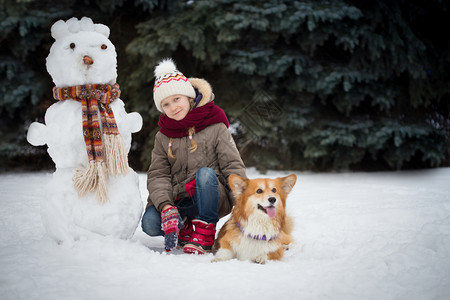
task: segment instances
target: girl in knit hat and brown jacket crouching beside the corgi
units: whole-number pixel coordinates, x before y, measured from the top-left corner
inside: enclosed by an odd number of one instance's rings
[[[162,114],[142,229],[164,235],[166,251],[178,245],[203,254],[212,249],[219,218],[234,204],[228,176],[245,176],[245,166],[208,82],[187,79],[171,59],[156,66],[155,77],[153,98]]]

